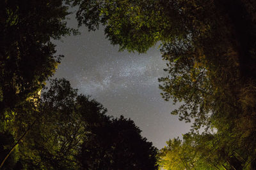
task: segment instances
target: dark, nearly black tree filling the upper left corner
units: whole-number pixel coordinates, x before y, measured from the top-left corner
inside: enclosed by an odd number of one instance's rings
[[[1,1],[0,114],[12,110],[44,86],[60,56],[51,39],[76,34],[67,27],[61,0]]]

